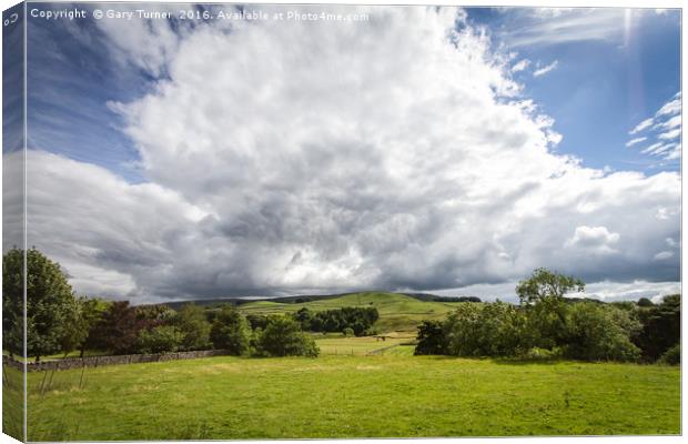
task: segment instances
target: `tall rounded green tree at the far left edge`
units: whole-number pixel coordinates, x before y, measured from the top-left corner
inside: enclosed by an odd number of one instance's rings
[[[12,249],[2,258],[4,332],[3,344],[12,353],[23,353],[23,250]],[[58,353],[63,344],[73,342],[69,329],[77,314],[71,285],[60,264],[36,249],[26,252],[27,261],[27,353],[40,356]]]

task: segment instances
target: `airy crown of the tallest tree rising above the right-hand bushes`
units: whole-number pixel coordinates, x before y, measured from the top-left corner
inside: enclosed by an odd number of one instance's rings
[[[516,294],[522,305],[529,305],[546,299],[559,300],[566,293],[584,290],[585,283],[581,280],[540,268],[536,269],[530,278],[518,283]]]

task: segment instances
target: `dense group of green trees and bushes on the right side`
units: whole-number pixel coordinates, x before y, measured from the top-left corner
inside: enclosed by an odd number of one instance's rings
[[[661,303],[570,300],[585,284],[536,270],[522,281],[519,305],[461,304],[444,321],[418,326],[415,354],[680,362],[680,295]]]

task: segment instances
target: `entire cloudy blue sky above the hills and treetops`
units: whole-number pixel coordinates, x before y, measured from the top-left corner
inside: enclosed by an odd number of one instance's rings
[[[29,19],[28,238],[81,294],[680,289],[678,10],[73,7]]]

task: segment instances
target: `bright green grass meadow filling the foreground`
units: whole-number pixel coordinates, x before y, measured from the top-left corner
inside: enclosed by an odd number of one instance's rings
[[[346,339],[348,340],[348,339]],[[411,356],[29,374],[30,441],[678,434],[680,370]]]

